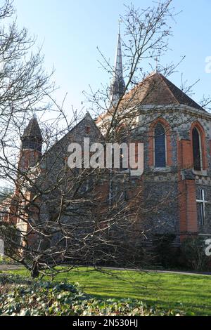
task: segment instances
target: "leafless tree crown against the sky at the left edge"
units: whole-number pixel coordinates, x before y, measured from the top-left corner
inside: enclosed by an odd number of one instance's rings
[[[6,178],[7,152],[11,153],[16,145],[25,119],[30,118],[34,110],[48,109],[46,95],[54,86],[51,74],[42,67],[41,51],[32,53],[36,39],[30,37],[27,29],[18,29],[16,25],[13,1],[1,1],[0,13],[0,178]]]

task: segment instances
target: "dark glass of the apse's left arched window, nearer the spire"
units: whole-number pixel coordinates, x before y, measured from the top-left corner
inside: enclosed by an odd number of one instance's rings
[[[165,129],[162,124],[155,126],[155,167],[166,166]]]

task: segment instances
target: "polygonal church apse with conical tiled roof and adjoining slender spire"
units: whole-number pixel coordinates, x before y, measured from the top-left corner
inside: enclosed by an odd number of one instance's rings
[[[149,211],[141,221],[174,233],[178,243],[189,235],[210,237],[211,114],[159,72],[122,96],[124,86],[119,34],[111,108],[122,97],[120,108],[125,104],[123,112],[130,107],[134,115],[134,140],[144,144],[142,198]],[[103,114],[97,126],[112,116],[112,110]]]

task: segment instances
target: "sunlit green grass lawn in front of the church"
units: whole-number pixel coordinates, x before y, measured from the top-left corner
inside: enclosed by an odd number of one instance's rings
[[[25,270],[13,271],[27,275]],[[135,271],[87,272],[86,268],[56,276],[78,282],[86,293],[106,298],[137,298],[162,308],[179,308],[195,315],[211,315],[211,277],[141,273]],[[117,278],[120,277],[120,278]]]

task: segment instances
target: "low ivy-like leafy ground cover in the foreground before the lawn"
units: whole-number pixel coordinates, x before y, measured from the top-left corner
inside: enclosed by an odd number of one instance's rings
[[[41,282],[0,274],[0,315],[90,316],[90,315],[183,315],[142,301],[98,299],[85,294],[78,284]]]

